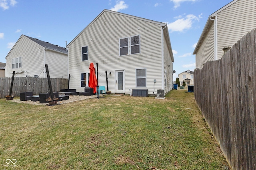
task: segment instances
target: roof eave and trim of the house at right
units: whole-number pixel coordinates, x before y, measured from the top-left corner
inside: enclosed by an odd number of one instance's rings
[[[219,10],[217,10],[216,12],[212,13],[212,15],[210,15],[206,21],[206,24],[204,26],[204,29],[202,31],[202,34],[200,35],[200,38],[196,44],[196,47],[194,49],[193,55],[195,55],[199,49],[199,47],[201,46],[202,42],[204,41],[204,37],[206,36],[206,34],[209,31],[210,25],[212,24],[212,22],[214,22],[213,20],[211,20],[212,18],[215,19],[215,17],[217,16],[217,14],[223,10],[225,10],[226,8],[228,8],[229,6],[231,6],[232,4],[234,4],[235,2],[237,2],[238,0],[233,0],[232,2],[228,3],[227,5],[225,5],[224,7],[220,8]]]

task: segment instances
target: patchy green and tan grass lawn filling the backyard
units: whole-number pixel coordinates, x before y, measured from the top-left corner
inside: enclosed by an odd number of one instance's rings
[[[0,169],[228,170],[185,91],[165,100],[108,95],[57,106],[1,99]]]

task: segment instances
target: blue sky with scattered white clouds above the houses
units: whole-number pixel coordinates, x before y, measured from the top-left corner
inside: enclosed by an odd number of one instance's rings
[[[208,17],[232,0],[0,0],[0,62],[24,34],[61,47],[104,9],[168,23],[174,80],[195,68],[194,47]]]

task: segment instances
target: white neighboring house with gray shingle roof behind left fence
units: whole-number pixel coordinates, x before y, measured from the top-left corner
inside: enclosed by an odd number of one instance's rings
[[[36,38],[21,35],[6,56],[5,76],[47,77],[45,64],[51,78],[68,78],[68,51]]]

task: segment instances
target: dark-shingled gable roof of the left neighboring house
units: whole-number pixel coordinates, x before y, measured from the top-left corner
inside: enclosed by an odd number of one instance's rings
[[[42,47],[48,49],[48,50],[52,50],[52,51],[56,51],[58,53],[64,53],[64,54],[68,54],[68,50],[64,47],[60,47],[58,45],[53,45],[51,43],[45,42],[45,41],[41,41],[39,39],[36,38],[32,38],[32,37],[28,37],[27,35],[21,35],[20,38],[18,39],[18,41],[14,44],[14,46],[12,47],[12,49],[14,49],[14,47],[16,46],[16,44],[20,41],[21,37],[26,37],[32,41],[34,41],[35,43],[37,43],[38,45],[41,45]],[[10,54],[10,52],[12,51],[12,49],[9,51],[8,55]],[[7,59],[8,55],[5,57],[5,59]]]

